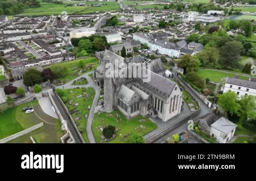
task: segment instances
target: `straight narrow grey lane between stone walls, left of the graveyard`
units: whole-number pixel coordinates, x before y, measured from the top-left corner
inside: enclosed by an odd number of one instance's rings
[[[54,103],[56,103],[56,106],[58,107],[61,116],[63,117],[63,119],[65,119],[67,121],[67,126],[69,127],[69,130],[74,138],[74,141],[76,143],[82,143],[83,141],[80,140],[80,137],[78,136],[75,126],[72,124],[71,120],[69,119],[69,115],[67,115],[64,107],[62,106],[62,104],[59,102],[58,98],[55,96],[55,94],[53,93],[53,90],[50,90],[49,93],[51,94]]]

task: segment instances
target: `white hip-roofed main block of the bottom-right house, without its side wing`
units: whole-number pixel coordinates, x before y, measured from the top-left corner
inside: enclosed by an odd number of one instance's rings
[[[219,143],[226,143],[234,136],[237,125],[222,116],[210,127],[210,136]]]

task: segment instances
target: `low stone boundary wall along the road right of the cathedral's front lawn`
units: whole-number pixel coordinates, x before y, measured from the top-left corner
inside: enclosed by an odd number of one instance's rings
[[[167,134],[168,132],[171,132],[173,129],[176,129],[177,127],[179,127],[181,124],[184,124],[185,122],[187,122],[188,120],[191,119],[191,117],[197,115],[198,111],[200,111],[200,108],[197,109],[197,111],[192,112],[191,114],[185,116],[184,118],[181,118],[179,121],[177,121],[176,123],[170,125],[169,127],[163,129],[163,131],[158,132],[157,134],[155,134],[154,136],[152,136],[151,138],[147,139],[146,142],[147,143],[152,143],[155,140],[158,140],[160,137],[163,137],[165,134]]]

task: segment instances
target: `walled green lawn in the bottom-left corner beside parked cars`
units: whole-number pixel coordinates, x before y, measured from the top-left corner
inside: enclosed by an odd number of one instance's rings
[[[10,142],[31,143],[29,137],[32,136],[37,143],[60,143],[60,138],[63,135],[60,121],[49,116],[48,114],[45,114],[41,109],[38,101],[21,104],[15,108],[7,109],[3,114],[0,114],[0,139],[11,136],[12,134],[23,131],[24,129],[43,122],[36,116],[35,113],[25,114],[21,111],[23,107],[31,105],[40,118],[54,123],[55,125],[47,124],[44,122],[43,127],[40,127],[39,129],[36,129],[28,134],[11,140]]]

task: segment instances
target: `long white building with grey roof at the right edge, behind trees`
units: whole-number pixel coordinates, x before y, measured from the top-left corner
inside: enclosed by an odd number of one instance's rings
[[[227,91],[235,91],[238,96],[256,96],[256,82],[237,78],[228,78],[223,92],[226,93]]]

